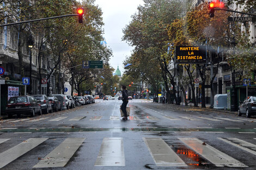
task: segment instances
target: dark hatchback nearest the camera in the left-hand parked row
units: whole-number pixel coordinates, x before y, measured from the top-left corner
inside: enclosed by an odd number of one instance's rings
[[[8,117],[13,115],[20,117],[21,114],[29,114],[35,116],[35,113],[42,115],[41,104],[33,96],[15,96],[8,100],[5,110]]]

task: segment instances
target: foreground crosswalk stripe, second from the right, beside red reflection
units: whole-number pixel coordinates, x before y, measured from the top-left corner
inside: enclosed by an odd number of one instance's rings
[[[211,147],[209,144],[202,144],[203,141],[200,141],[198,138],[179,138],[179,140],[184,142],[188,147],[192,148],[211,163],[214,163],[217,167],[247,167],[242,162],[231,158],[220,150]]]

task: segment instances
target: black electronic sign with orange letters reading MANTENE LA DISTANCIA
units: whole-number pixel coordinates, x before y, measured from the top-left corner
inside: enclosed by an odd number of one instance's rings
[[[176,63],[179,64],[200,64],[206,63],[205,46],[177,46]]]

